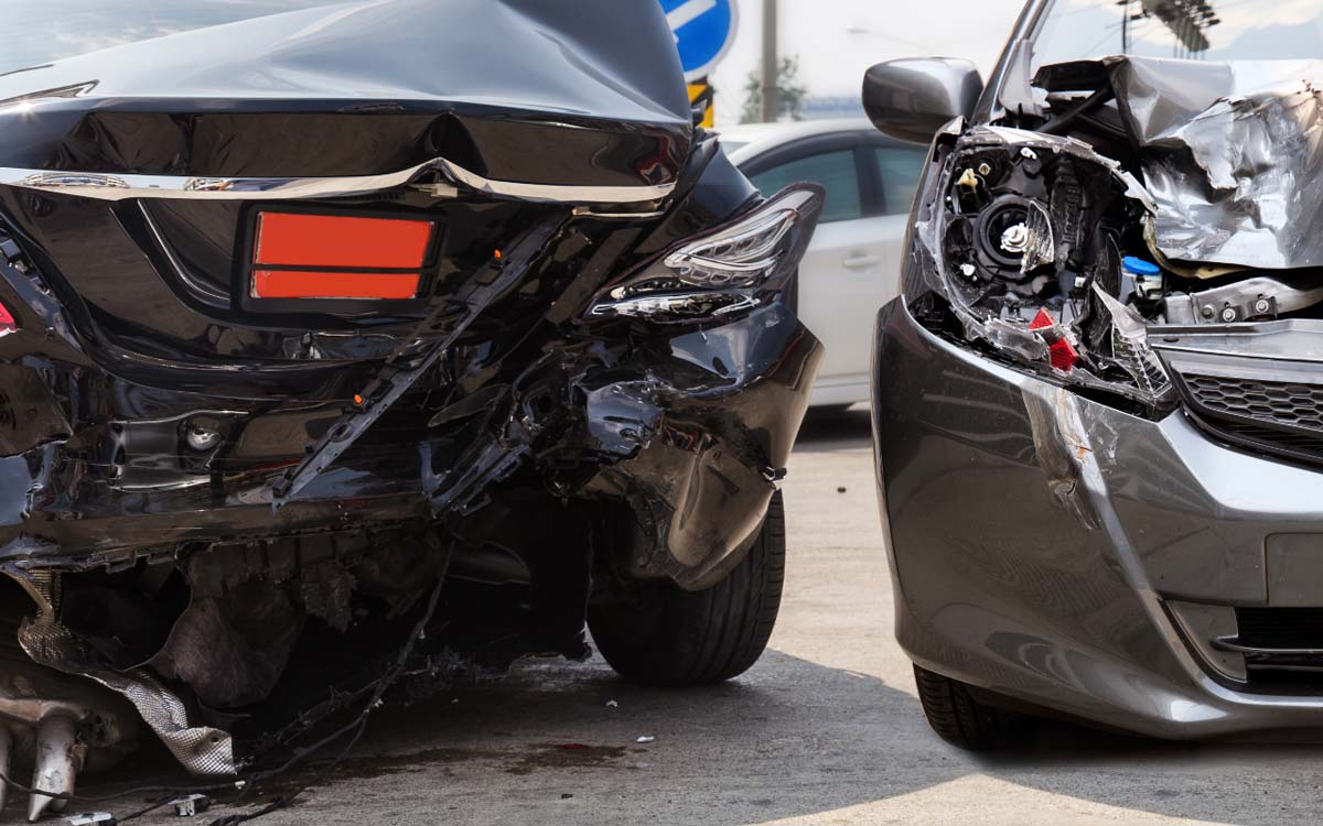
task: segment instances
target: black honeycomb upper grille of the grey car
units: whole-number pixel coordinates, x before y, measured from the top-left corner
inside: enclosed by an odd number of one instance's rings
[[[1253,451],[1323,464],[1323,385],[1180,373],[1193,420]]]

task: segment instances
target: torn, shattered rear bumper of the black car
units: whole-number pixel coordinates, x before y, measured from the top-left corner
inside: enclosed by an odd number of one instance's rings
[[[820,352],[778,301],[700,332],[659,334],[622,361],[561,359],[538,381],[538,393],[556,393],[554,410],[541,406],[554,433],[525,410],[527,437],[492,447],[509,461],[488,460],[491,472],[454,506],[472,505],[516,468],[554,480],[565,496],[619,498],[656,539],[638,567],[701,587],[755,531]],[[7,370],[8,440],[24,448],[0,457],[0,566],[9,571],[115,567],[183,546],[442,515],[429,494],[454,456],[442,432],[393,440],[385,419],[274,509],[273,481],[343,404],[171,393],[95,367]],[[97,414],[70,408],[70,399]],[[46,416],[42,430],[21,432],[33,411]]]

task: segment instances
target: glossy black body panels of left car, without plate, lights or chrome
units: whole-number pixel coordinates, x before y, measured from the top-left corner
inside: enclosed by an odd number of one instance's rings
[[[105,202],[0,188],[0,239],[11,252],[0,262],[0,301],[19,320],[19,332],[0,337],[16,411],[0,459],[0,476],[9,480],[0,519],[0,548],[8,552],[0,556],[28,568],[77,568],[128,560],[146,546],[426,515],[471,504],[456,484],[480,492],[516,468],[540,468],[564,494],[630,502],[650,537],[648,576],[688,587],[713,582],[738,558],[782,473],[819,345],[781,303],[701,333],[579,317],[603,285],[757,198],[716,140],[691,137],[683,83],[665,71],[673,44],[668,33],[658,36],[664,21],[655,4],[456,3],[447,5],[446,26],[435,7],[411,0],[369,5],[349,22],[327,15],[250,21],[116,49],[114,59],[87,56],[3,78],[0,96],[8,98],[77,85],[69,78],[94,69],[97,83],[37,102],[24,116],[0,106],[0,119],[15,127],[0,130],[0,165],[306,176],[382,172],[445,155],[533,182],[673,180],[667,209],[638,219],[570,217],[552,205],[417,190],[318,202],[318,211],[437,221],[429,300],[415,308],[253,312],[235,297],[249,259],[245,230],[258,209],[310,209],[306,202]],[[419,26],[455,29],[454,15],[480,20],[466,42],[483,33],[490,42],[501,33],[519,40],[532,26],[538,38],[578,52],[561,49],[558,62],[536,70],[532,53],[486,56],[499,63],[495,74],[467,93],[442,94],[437,77],[454,73],[459,53],[426,69],[404,66],[393,53],[415,48]],[[316,37],[300,40],[296,33],[319,16]],[[204,37],[213,46],[206,65],[196,54]],[[221,42],[229,48],[214,48]],[[356,82],[372,91],[352,106],[331,106],[314,86],[336,79],[343,89],[327,56],[347,42],[370,53]],[[640,61],[650,54],[651,63]],[[156,95],[168,75],[161,66],[172,61],[187,66],[181,89],[200,83],[197,91],[208,94]],[[255,82],[254,71],[286,77],[312,65],[327,77],[299,74],[296,87],[274,95],[242,86]],[[224,93],[210,86],[225,77],[242,81]],[[463,77],[474,77],[471,67]],[[500,85],[507,98],[536,98],[542,108],[528,114],[478,100]],[[433,140],[454,137],[456,124],[467,149]],[[648,160],[646,172],[639,159]],[[548,222],[558,229],[455,333],[445,357],[415,370],[417,383],[382,406],[380,419],[363,419],[369,404],[353,399],[392,370],[384,373],[388,357],[435,352],[410,344],[419,322],[445,316],[447,301],[476,285],[493,252],[508,252],[523,227]],[[441,341],[441,333],[429,334]],[[556,353],[562,356],[548,356]],[[648,391],[630,415],[667,436],[654,444],[635,433],[630,449],[591,447],[599,428],[617,427],[609,423],[619,411],[603,404],[602,393],[636,382]],[[478,426],[463,412],[475,400],[519,410],[545,393],[557,394],[554,412],[534,418],[515,451],[509,431]],[[360,423],[344,456],[300,477],[307,488],[287,492],[288,504],[273,513],[271,486],[280,489],[282,474],[307,467],[307,451],[345,422]],[[214,432],[216,445],[191,448],[187,435],[197,428]],[[569,460],[570,444],[591,449]],[[566,476],[569,465],[576,472]],[[464,468],[482,473],[466,478]]]

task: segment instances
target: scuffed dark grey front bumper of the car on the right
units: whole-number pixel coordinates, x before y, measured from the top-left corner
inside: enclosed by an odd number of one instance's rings
[[[1323,604],[1323,474],[996,365],[900,301],[878,316],[875,399],[917,663],[1154,736],[1323,724],[1319,681],[1270,679],[1236,646],[1250,617]]]

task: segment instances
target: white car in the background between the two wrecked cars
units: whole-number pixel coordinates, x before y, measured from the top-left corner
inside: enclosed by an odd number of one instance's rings
[[[810,404],[868,402],[873,317],[896,297],[927,147],[886,137],[865,118],[717,132],[726,156],[763,194],[795,181],[827,188],[818,234],[799,266],[798,315],[827,346]]]

